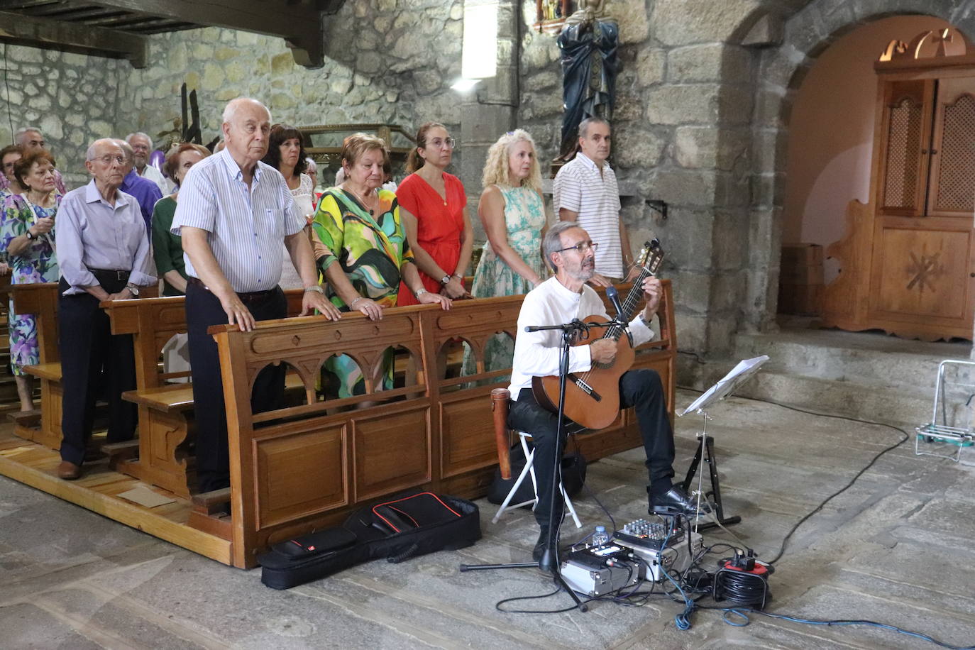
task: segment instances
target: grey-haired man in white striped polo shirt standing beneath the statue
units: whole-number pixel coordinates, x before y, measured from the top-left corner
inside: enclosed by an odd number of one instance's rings
[[[626,226],[619,218],[619,188],[609,168],[609,123],[601,117],[579,124],[579,152],[565,163],[552,184],[556,217],[575,221],[593,241],[596,275],[590,281],[606,287],[622,279],[633,280],[639,269],[633,265],[633,251]]]

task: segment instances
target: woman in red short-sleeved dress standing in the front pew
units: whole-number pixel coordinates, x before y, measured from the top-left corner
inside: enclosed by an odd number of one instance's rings
[[[453,157],[447,128],[427,122],[409,152],[409,175],[396,190],[409,248],[423,287],[448,298],[468,295],[464,273],[471,263],[474,228],[467,213],[467,195],[460,179],[444,172]],[[415,305],[409,288],[400,285],[399,305]]]

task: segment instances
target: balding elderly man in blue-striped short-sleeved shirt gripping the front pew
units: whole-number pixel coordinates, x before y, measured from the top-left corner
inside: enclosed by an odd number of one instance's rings
[[[220,362],[207,328],[229,323],[250,331],[255,320],[288,315],[278,287],[285,248],[304,285],[301,314],[317,309],[330,320],[340,316],[318,285],[305,220],[288,183],[260,162],[267,153],[270,111],[255,99],[233,99],[223,111],[222,130],[226,147],[186,173],[172,230],[182,236],[189,276],[186,325],[201,492],[230,485]],[[284,388],[284,365],[261,370],[254,382],[254,412],[281,407]]]

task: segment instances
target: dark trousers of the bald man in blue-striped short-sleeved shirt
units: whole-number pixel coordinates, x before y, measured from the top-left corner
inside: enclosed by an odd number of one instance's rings
[[[255,321],[288,316],[288,300],[280,287],[260,299],[245,302]],[[210,290],[196,283],[186,286],[186,326],[189,363],[193,374],[196,416],[196,469],[201,492],[230,486],[227,412],[223,402],[220,358],[210,325],[226,325],[227,314]],[[268,365],[257,373],[251,408],[254,413],[280,408],[285,397],[285,365]]]

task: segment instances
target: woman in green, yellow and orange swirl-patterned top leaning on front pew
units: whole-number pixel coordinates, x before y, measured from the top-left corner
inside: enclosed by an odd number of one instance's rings
[[[418,302],[450,308],[447,296],[423,287],[400,221],[396,195],[380,189],[389,153],[375,135],[355,134],[342,143],[345,181],[322,195],[312,222],[315,259],[325,279],[326,295],[341,311],[357,310],[373,321],[397,305],[402,280]],[[327,369],[339,379],[338,397],[365,393],[358,364],[343,355]],[[393,386],[393,351],[387,350],[375,385]],[[381,381],[381,384],[380,384]]]

